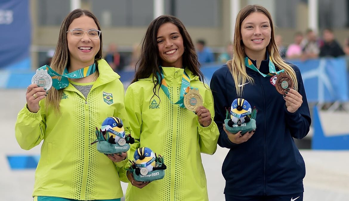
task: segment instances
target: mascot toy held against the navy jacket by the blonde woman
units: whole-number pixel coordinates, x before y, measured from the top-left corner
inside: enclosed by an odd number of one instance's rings
[[[224,120],[225,128],[231,133],[241,131],[243,135],[256,129],[256,116],[257,109],[252,110],[247,100],[237,98],[231,103],[230,111],[227,111],[227,119]]]

